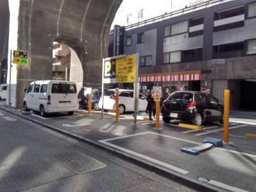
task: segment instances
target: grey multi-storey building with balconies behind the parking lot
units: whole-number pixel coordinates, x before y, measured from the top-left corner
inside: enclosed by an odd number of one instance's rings
[[[109,41],[109,56],[139,54],[143,90],[196,90],[223,101],[223,92],[229,89],[232,109],[256,109],[255,0],[187,6],[116,26]]]

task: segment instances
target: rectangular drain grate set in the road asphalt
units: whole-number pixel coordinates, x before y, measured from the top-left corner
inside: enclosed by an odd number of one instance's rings
[[[92,157],[78,151],[60,154],[53,157],[60,161],[64,166],[78,174],[91,172],[107,166],[106,164],[103,164],[96,159],[92,159]]]

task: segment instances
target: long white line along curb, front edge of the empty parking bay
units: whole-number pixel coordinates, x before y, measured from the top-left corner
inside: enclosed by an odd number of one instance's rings
[[[119,137],[119,138],[121,138],[121,137]],[[146,159],[147,161],[150,161],[150,162],[152,162],[152,163],[159,164],[160,166],[164,166],[164,167],[169,168],[170,170],[173,170],[173,171],[175,171],[175,172],[182,173],[183,175],[189,173],[187,170],[183,170],[183,169],[178,168],[178,167],[176,167],[176,166],[173,166],[173,165],[171,165],[171,164],[164,163],[164,162],[162,162],[162,161],[158,161],[157,159],[153,159],[153,158],[151,158],[151,157],[144,156],[144,155],[139,154],[139,153],[137,153],[137,152],[133,152],[132,150],[128,150],[127,148],[119,147],[119,146],[114,145],[114,144],[112,144],[112,143],[108,143],[107,141],[102,141],[102,140],[101,140],[101,141],[99,141],[99,142],[101,142],[101,143],[103,143],[103,144],[105,144],[105,145],[108,145],[108,146],[110,146],[110,147],[117,148],[117,149],[119,149],[119,150],[121,150],[121,151],[123,151],[123,152],[126,152],[126,153],[128,153],[128,154],[131,154],[131,155],[133,155],[133,156],[140,157],[141,159]]]

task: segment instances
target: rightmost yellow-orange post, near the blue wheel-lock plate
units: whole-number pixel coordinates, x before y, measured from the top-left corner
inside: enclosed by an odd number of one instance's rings
[[[229,101],[230,101],[230,90],[224,92],[224,130],[223,130],[223,141],[228,143],[229,134]]]

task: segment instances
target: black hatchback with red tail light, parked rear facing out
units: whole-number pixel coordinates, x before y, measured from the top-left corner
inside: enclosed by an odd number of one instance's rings
[[[207,93],[174,92],[162,104],[162,118],[166,123],[171,119],[194,125],[212,121],[223,123],[223,104]]]

